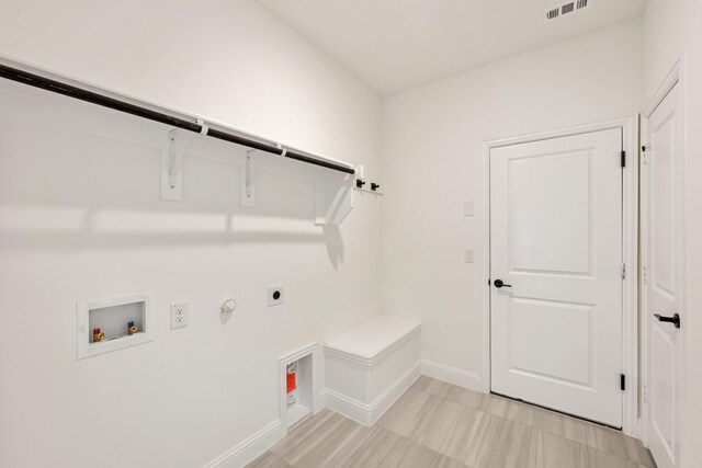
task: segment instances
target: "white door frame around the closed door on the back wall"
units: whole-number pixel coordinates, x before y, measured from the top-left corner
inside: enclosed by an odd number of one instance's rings
[[[622,261],[626,276],[622,281],[622,373],[626,376],[623,392],[622,431],[639,435],[638,418],[638,115],[607,122],[539,132],[483,142],[483,389],[490,392],[490,150],[503,146],[533,142],[609,129],[622,130],[626,167],[622,181]]]

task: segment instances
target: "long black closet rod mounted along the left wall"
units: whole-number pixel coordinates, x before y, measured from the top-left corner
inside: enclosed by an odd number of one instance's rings
[[[195,122],[185,121],[173,115],[168,115],[161,112],[152,111],[150,109],[141,107],[118,99],[102,95],[92,91],[84,90],[82,88],[73,87],[71,84],[63,83],[60,81],[52,80],[49,78],[41,77],[38,75],[30,73],[24,70],[9,67],[0,64],[0,78],[4,78],[12,81],[18,81],[23,84],[27,84],[34,88],[41,88],[46,91],[55,92],[57,94],[67,95],[80,101],[90,102],[92,104],[101,105],[103,107],[110,107],[115,111],[124,112],[126,114],[136,115],[137,117],[148,118],[149,121],[159,122],[161,124],[170,125],[173,127],[182,128],[196,134],[203,129],[202,125]],[[194,121],[194,119],[193,119]],[[295,150],[291,150],[284,147],[270,146],[254,139],[247,138],[230,134],[227,132],[218,130],[216,128],[207,128],[206,136],[217,138],[220,140],[235,142],[237,145],[247,146],[249,148],[258,149],[261,151],[270,152],[278,156],[284,156],[285,158],[294,159],[297,161],[306,162],[308,164],[320,165],[322,168],[332,169],[339,172],[346,172],[347,174],[354,174],[355,169],[346,165],[337,164],[330,161],[316,159]]]

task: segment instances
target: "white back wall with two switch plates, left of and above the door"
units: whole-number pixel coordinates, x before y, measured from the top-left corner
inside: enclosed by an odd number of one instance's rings
[[[635,114],[641,39],[637,20],[384,100],[383,307],[423,322],[423,358],[483,370],[482,142]]]

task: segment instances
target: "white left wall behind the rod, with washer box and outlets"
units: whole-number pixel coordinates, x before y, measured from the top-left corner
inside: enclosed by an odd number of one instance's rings
[[[378,175],[380,99],[248,0],[5,1],[0,55]],[[0,466],[202,466],[279,416],[279,356],[380,312],[380,203],[317,228],[310,183],[261,174],[242,209],[224,149],[161,202],[160,130],[93,123],[147,142],[0,118]],[[77,361],[76,301],[139,292],[156,341]],[[172,300],[189,328],[169,330]]]

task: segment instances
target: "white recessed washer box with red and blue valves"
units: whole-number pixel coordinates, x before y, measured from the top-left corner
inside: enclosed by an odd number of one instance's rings
[[[80,301],[76,305],[78,358],[97,356],[154,340],[154,317],[147,294],[111,296]],[[136,333],[127,324],[134,322]],[[104,333],[94,341],[93,330]]]

